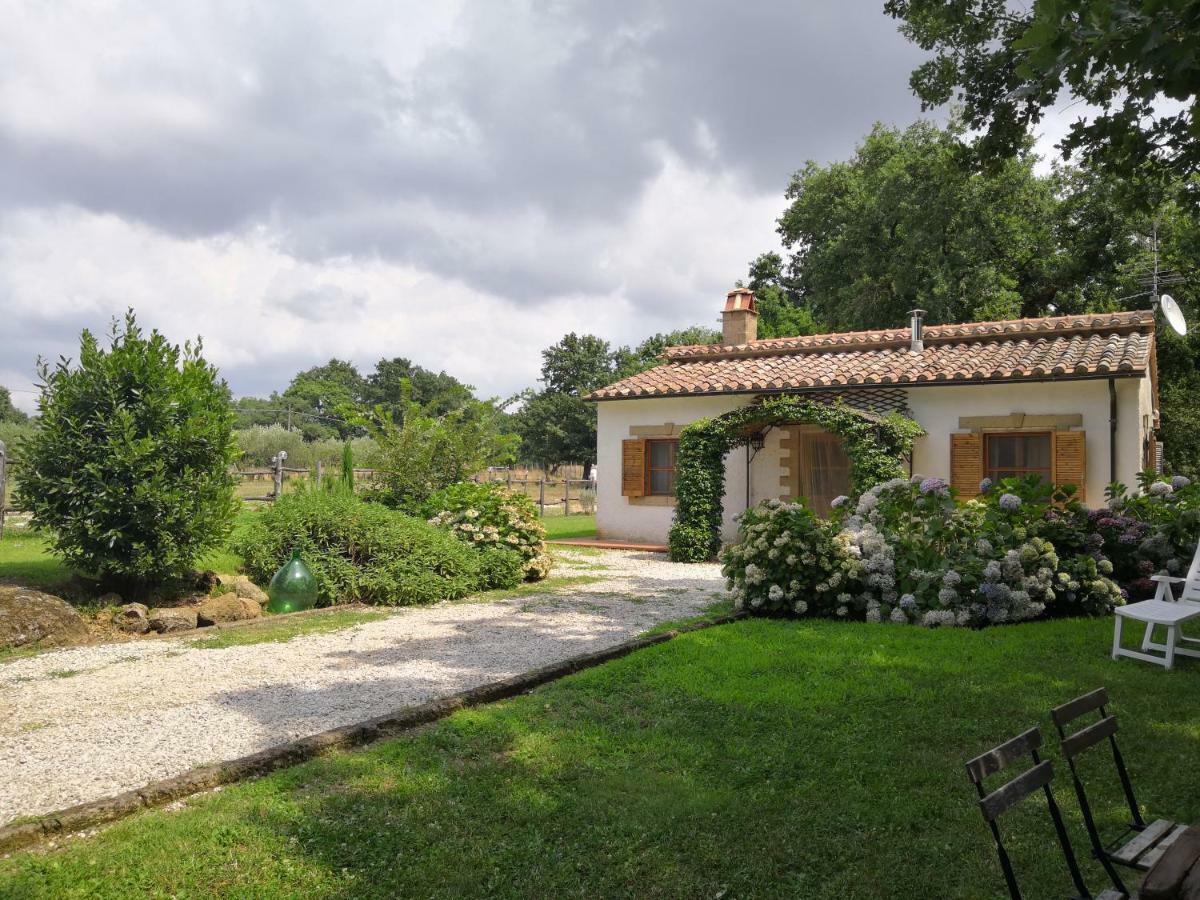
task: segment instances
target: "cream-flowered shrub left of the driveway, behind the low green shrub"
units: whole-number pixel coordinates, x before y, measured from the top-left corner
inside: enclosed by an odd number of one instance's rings
[[[433,494],[426,511],[431,524],[449,529],[479,550],[504,550],[520,557],[526,581],[550,575],[546,529],[538,508],[524,494],[503,485],[463,481]]]

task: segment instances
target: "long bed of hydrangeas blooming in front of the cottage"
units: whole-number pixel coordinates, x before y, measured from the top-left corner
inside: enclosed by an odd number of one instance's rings
[[[1045,616],[1098,616],[1182,572],[1200,534],[1200,488],[1145,479],[1130,497],[1087,510],[1073,490],[1036,476],[984,482],[958,503],[938,478],[892,479],[826,522],[803,503],[748,510],[721,553],[739,608],[980,626]]]

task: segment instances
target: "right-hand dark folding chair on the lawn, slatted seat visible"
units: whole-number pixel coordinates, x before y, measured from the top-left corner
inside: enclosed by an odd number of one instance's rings
[[[1129,772],[1126,769],[1124,758],[1121,756],[1121,748],[1117,746],[1117,720],[1109,715],[1105,707],[1109,702],[1108,691],[1099,688],[1082,697],[1076,697],[1062,706],[1050,710],[1058,728],[1058,737],[1062,739],[1062,755],[1070,768],[1072,781],[1075,782],[1075,794],[1079,797],[1079,806],[1084,814],[1084,823],[1087,826],[1087,836],[1092,842],[1092,853],[1112,880],[1112,886],[1118,890],[1124,890],[1121,877],[1117,874],[1117,865],[1128,866],[1139,871],[1146,871],[1157,863],[1163,853],[1187,830],[1186,824],[1177,824],[1168,818],[1156,818],[1150,824],[1141,816],[1138,800],[1133,793],[1133,784],[1129,781]],[[1067,733],[1067,726],[1088,713],[1097,713],[1099,720],[1080,728],[1073,733]],[[1115,839],[1105,842],[1100,836],[1100,830],[1096,824],[1096,816],[1092,814],[1092,804],[1088,803],[1087,791],[1084,788],[1084,780],[1079,774],[1079,757],[1088,750],[1108,742],[1112,752],[1112,763],[1116,766],[1117,778],[1121,781],[1121,790],[1124,792],[1126,804],[1129,806],[1129,826]]]

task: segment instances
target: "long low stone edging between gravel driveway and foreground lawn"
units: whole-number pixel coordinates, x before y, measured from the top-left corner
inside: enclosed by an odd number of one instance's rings
[[[229,785],[258,775],[265,775],[275,769],[307,762],[330,750],[361,746],[398,734],[419,725],[444,719],[458,709],[506,700],[508,697],[533,690],[574,672],[582,672],[601,662],[625,656],[634,650],[665,643],[689,631],[700,631],[714,625],[727,625],[744,617],[745,613],[736,612],[694,625],[684,625],[683,628],[664,631],[658,635],[625,641],[602,650],[596,650],[595,653],[572,656],[559,662],[552,662],[548,666],[540,666],[528,672],[522,672],[511,678],[458,691],[442,700],[433,700],[415,707],[404,707],[354,725],[343,725],[337,728],[322,731],[299,738],[298,740],[290,740],[287,744],[260,750],[250,756],[229,760],[228,762],[200,766],[181,775],[152,781],[145,787],[126,791],[115,797],[82,803],[56,812],[47,812],[31,821],[4,826],[0,827],[0,853],[10,853],[50,838],[115,822],[140,810],[162,806],[173,800],[182,799],[202,791],[209,791],[221,785]]]

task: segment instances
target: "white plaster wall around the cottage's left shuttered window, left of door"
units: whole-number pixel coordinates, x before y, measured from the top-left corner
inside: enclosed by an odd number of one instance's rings
[[[665,397],[646,400],[606,400],[599,402],[596,438],[596,532],[611,540],[666,544],[674,506],[649,506],[631,503],[620,494],[620,442],[634,437],[629,430],[634,425],[688,425],[697,419],[720,415],[743,407],[751,401],[745,395],[716,397]],[[775,430],[778,432],[778,430]],[[775,438],[776,469],[779,484],[778,446]],[[764,451],[766,452],[766,451]],[[760,460],[762,454],[760,455]],[[758,462],[755,461],[755,490],[758,488]],[[733,516],[745,508],[746,467],[745,451],[736,448],[725,461],[725,522],[722,536],[728,540],[737,535]]]

